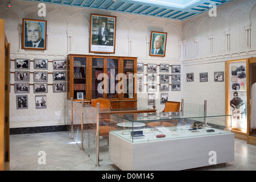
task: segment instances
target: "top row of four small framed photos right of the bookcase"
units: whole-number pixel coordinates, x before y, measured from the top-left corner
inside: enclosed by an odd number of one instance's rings
[[[147,73],[156,73],[157,64],[147,64]],[[170,72],[170,64],[160,64],[159,72]],[[180,73],[180,65],[171,65],[171,73]],[[144,63],[137,63],[137,72],[144,72]]]

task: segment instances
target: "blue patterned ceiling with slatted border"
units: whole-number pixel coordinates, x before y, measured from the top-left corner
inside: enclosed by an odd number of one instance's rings
[[[170,20],[185,20],[235,0],[20,0],[142,15]]]

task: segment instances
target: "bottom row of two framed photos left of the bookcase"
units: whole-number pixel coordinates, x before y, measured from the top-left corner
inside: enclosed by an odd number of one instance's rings
[[[16,107],[17,107],[17,109],[28,109],[28,96],[27,95],[17,95],[16,96]],[[47,108],[46,95],[36,95],[35,96],[35,108],[36,109],[46,109]]]

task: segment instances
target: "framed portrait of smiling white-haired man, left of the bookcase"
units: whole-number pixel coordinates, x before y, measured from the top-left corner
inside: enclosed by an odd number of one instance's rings
[[[46,20],[23,18],[23,49],[46,50]]]

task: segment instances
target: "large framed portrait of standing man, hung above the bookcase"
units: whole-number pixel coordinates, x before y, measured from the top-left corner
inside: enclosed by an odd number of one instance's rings
[[[90,15],[90,50],[95,53],[115,53],[117,17]]]

